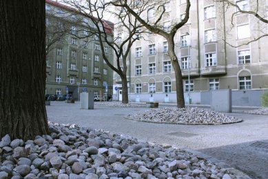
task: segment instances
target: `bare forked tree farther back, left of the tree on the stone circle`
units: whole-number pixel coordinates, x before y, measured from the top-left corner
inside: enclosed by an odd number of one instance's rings
[[[127,104],[128,89],[127,89],[127,61],[131,47],[134,41],[141,38],[141,34],[144,32],[143,25],[136,19],[131,19],[132,15],[124,9],[110,10],[114,8],[110,3],[106,1],[65,1],[72,8],[76,8],[83,17],[87,17],[93,23],[93,26],[86,26],[89,30],[89,36],[96,35],[98,37],[103,59],[106,64],[112,68],[120,77],[122,83],[122,103]],[[114,39],[110,38],[111,25],[108,21],[104,20],[105,15],[112,15],[115,19],[119,19],[121,29],[124,30],[126,37],[116,36]],[[118,24],[116,24],[118,25]],[[116,63],[112,63],[105,53],[105,46],[109,46],[114,52]]]

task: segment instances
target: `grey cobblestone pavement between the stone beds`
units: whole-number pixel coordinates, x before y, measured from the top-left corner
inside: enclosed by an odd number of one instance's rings
[[[134,122],[125,116],[146,107],[109,107],[94,105],[94,110],[80,109],[79,103],[52,102],[47,106],[48,120],[75,123],[112,133],[131,135],[138,140],[171,144],[200,151],[218,158],[251,176],[268,178],[268,115],[229,113],[244,122],[225,125],[178,125]]]

